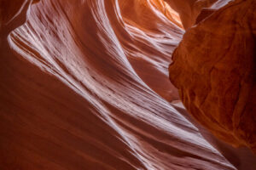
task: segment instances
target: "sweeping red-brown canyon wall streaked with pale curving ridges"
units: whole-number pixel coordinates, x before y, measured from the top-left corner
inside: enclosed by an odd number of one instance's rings
[[[167,3],[3,0],[0,9],[0,169],[241,167],[170,104],[167,67],[184,31]]]

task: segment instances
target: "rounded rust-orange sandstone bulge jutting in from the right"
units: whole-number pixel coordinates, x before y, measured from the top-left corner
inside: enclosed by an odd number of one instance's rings
[[[184,34],[169,67],[195,119],[219,139],[254,152],[255,8],[254,0],[236,0],[208,14]]]

